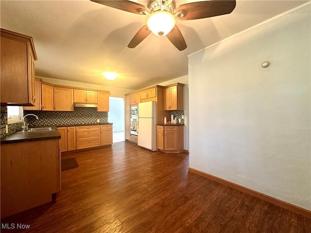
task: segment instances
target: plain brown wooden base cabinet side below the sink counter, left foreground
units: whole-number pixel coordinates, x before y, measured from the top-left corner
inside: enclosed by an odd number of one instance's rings
[[[1,144],[1,218],[51,202],[60,191],[58,143]]]

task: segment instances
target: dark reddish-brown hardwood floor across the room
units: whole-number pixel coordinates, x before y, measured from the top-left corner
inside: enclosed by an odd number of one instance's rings
[[[1,233],[311,233],[311,219],[188,172],[188,154],[130,142],[77,152],[53,203],[1,219]],[[30,229],[17,229],[18,224]]]

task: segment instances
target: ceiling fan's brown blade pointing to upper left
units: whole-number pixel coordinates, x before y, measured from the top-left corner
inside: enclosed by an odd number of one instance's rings
[[[146,6],[128,0],[91,0],[91,1],[138,15],[144,14],[144,11],[150,12],[150,10]]]

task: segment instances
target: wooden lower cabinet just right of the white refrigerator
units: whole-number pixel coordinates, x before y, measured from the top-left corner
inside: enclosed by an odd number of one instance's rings
[[[157,126],[157,149],[165,153],[184,152],[183,126]]]

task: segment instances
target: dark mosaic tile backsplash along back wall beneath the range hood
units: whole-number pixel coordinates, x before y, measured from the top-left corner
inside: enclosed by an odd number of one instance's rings
[[[27,116],[25,122],[29,126],[39,125],[69,125],[69,124],[94,124],[97,119],[100,123],[108,122],[108,112],[97,112],[97,108],[75,107],[74,111],[24,111],[26,114],[35,114],[35,116]]]

